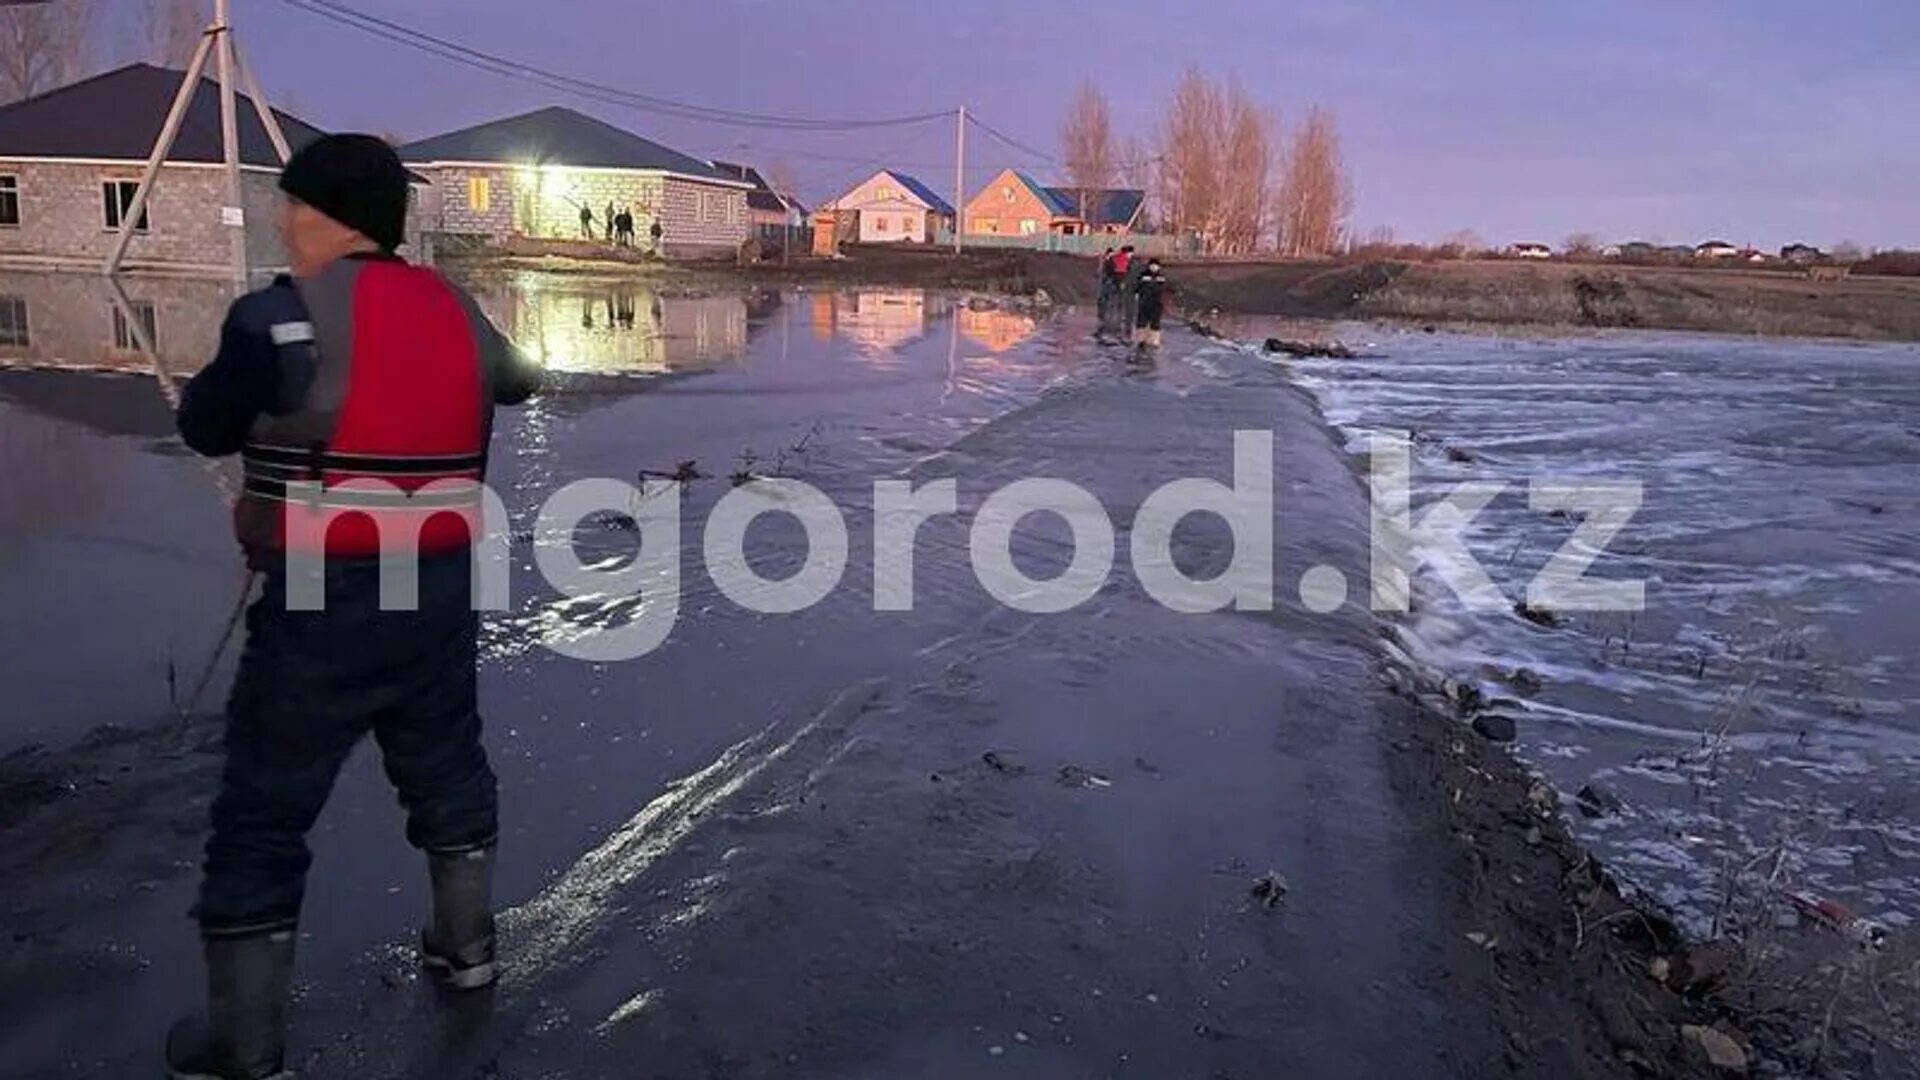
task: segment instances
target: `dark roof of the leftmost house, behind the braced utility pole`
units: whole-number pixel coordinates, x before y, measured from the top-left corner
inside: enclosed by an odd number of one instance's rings
[[[0,158],[100,158],[144,161],[180,90],[184,71],[129,63],[0,108]],[[253,102],[238,94],[240,161],[280,167]],[[273,110],[294,150],[321,131]],[[221,161],[219,83],[202,77],[169,161]]]

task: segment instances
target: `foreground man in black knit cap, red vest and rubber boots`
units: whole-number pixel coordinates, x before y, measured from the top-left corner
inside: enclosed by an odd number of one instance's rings
[[[369,732],[426,853],[420,959],[453,988],[495,978],[470,546],[493,405],[530,398],[540,373],[470,296],[394,254],[407,179],[371,135],[301,148],[280,175],[294,273],[232,304],[219,356],[180,398],[190,448],[244,459],[234,530],[261,590],[194,905],[207,1017],[167,1038],[177,1078],[284,1070],[307,830]],[[396,559],[417,603],[388,611]]]

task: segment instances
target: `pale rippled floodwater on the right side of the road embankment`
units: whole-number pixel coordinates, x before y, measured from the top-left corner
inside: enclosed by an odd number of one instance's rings
[[[1288,369],[1356,450],[1411,434],[1415,507],[1509,484],[1469,530],[1507,600],[1574,528],[1528,482],[1644,488],[1592,575],[1644,580],[1645,611],[1542,628],[1417,592],[1415,648],[1526,698],[1563,792],[1624,803],[1574,817],[1597,851],[1699,932],[1730,882],[1920,919],[1920,350],[1356,334],[1377,356]]]

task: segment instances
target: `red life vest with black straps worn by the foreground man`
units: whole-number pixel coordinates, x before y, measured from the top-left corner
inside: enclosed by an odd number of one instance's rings
[[[309,323],[298,409],[261,417],[242,450],[234,528],[250,552],[442,553],[482,536],[490,396],[463,300],[397,259],[342,259],[300,282]],[[286,367],[286,365],[282,365]]]

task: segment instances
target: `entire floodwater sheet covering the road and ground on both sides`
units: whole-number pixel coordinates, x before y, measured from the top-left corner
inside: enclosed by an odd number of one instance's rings
[[[1309,567],[1365,578],[1367,507],[1292,379],[1354,430],[1415,427],[1421,492],[1644,473],[1645,509],[1599,567],[1651,580],[1630,626],[1548,632],[1423,592],[1409,640],[1455,673],[1540,673],[1524,749],[1569,792],[1620,792],[1626,809],[1592,830],[1663,896],[1695,901],[1715,846],[1761,846],[1793,819],[1826,822],[1795,849],[1795,884],[1887,920],[1908,911],[1907,867],[1885,851],[1914,849],[1914,676],[1893,663],[1916,611],[1910,350],[1409,336],[1382,344],[1390,359],[1281,371],[1185,332],[1140,363],[1085,313],[922,290],[470,284],[553,373],[501,413],[490,477],[515,563],[482,661],[509,974],[468,1001],[478,1019],[420,994],[424,874],[361,753],[313,834],[303,1076],[1505,1063],[1505,1028],[1486,1022],[1505,995],[1484,955],[1461,967],[1452,947],[1484,926],[1455,924],[1457,867],[1409,840],[1428,832],[1386,776],[1382,626],[1357,601],[1296,603]],[[182,282],[115,298],[94,279],[0,277],[0,753],[152,723],[209,671],[240,590],[230,475],[179,450],[169,400],[211,350],[219,304]],[[1156,486],[1233,479],[1235,430],[1275,432],[1275,611],[1169,611],[1121,542],[1114,575],[1058,615],[1010,609],[970,571],[989,492],[1079,482],[1127,540]],[[549,496],[684,463],[699,479],[678,496],[678,594],[657,577],[637,596],[541,580],[536,557],[561,546],[603,571],[636,553],[618,513],[545,532]],[[714,584],[703,527],[733,475],[804,480],[839,507],[839,588],[760,615]],[[877,479],[958,486],[960,513],[920,534],[912,611],[874,605]],[[1075,525],[1029,517],[1012,561],[1064,571]],[[1173,565],[1219,571],[1217,525],[1175,530]],[[1476,544],[1511,588],[1565,530],[1501,502]],[[745,548],[778,578],[806,538],[766,515]],[[639,659],[551,648],[662,605],[674,630]],[[1745,636],[1763,619],[1793,640]],[[225,667],[211,673],[202,709],[225,690]],[[1715,719],[1728,688],[1738,723]],[[138,1074],[196,997],[196,838],[152,840],[173,872],[98,869],[63,928],[84,976],[10,1003],[0,1074]],[[1269,871],[1290,884],[1281,911],[1248,897]]]

